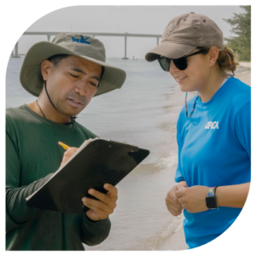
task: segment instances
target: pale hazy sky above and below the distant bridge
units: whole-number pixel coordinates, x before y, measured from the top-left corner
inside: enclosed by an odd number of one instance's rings
[[[168,23],[178,15],[195,12],[207,15],[224,32],[234,36],[223,19],[241,13],[239,4],[77,4],[54,9],[40,17],[31,15],[24,27],[27,32],[129,32],[162,34]],[[29,20],[26,17],[26,20]],[[22,23],[24,24],[24,23]],[[21,32],[22,33],[22,32]],[[26,51],[46,36],[18,36],[19,52]],[[53,37],[52,37],[53,38]],[[52,40],[51,38],[51,40]],[[125,38],[96,37],[106,48],[108,58],[125,55]],[[156,38],[127,38],[127,56],[143,59],[156,46]]]

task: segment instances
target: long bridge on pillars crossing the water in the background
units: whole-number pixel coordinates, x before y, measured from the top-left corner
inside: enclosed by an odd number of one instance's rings
[[[23,32],[21,36],[47,36],[47,40],[50,41],[50,37],[56,36],[59,33],[70,33],[70,32]],[[95,38],[98,37],[123,37],[125,38],[125,57],[123,60],[128,60],[127,58],[127,38],[156,38],[156,44],[159,44],[159,38],[162,37],[162,35],[156,35],[156,34],[131,34],[131,33],[102,33],[102,32],[77,32],[77,33],[85,33],[89,36],[92,36]],[[13,58],[20,58],[19,55],[19,46],[18,41],[15,43],[15,53],[12,51],[11,53]]]

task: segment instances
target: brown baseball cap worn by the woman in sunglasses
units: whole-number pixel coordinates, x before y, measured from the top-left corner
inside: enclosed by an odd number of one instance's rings
[[[178,59],[197,47],[216,46],[224,48],[223,32],[206,15],[191,12],[172,19],[161,38],[161,43],[145,56],[147,61],[155,61],[160,55]]]

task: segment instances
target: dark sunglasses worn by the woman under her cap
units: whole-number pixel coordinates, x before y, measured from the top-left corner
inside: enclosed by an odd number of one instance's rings
[[[157,61],[159,61],[160,63],[160,67],[166,71],[169,72],[170,71],[170,66],[171,66],[171,61],[173,61],[174,65],[179,69],[179,70],[185,70],[188,67],[188,61],[187,58],[189,56],[193,56],[193,55],[198,55],[200,53],[204,52],[204,50],[200,50],[195,52],[194,54],[191,55],[184,55],[183,57],[179,58],[179,59],[169,59],[166,58],[165,56],[160,56]]]

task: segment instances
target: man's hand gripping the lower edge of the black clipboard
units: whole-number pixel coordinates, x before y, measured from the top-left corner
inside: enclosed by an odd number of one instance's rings
[[[83,197],[82,201],[85,207],[89,207],[90,210],[86,212],[88,218],[93,221],[108,218],[113,210],[116,208],[116,202],[118,200],[118,189],[110,184],[105,184],[104,189],[108,190],[108,194],[105,195],[95,189],[90,189],[88,193],[96,197],[99,201]]]

